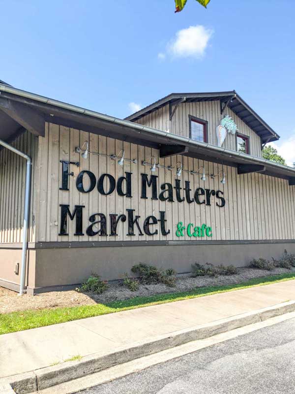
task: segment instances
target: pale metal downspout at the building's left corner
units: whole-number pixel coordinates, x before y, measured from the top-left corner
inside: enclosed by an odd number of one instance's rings
[[[25,209],[24,209],[24,228],[23,228],[23,251],[22,251],[22,263],[21,263],[21,280],[20,280],[20,293],[21,296],[24,294],[25,290],[25,280],[26,280],[26,262],[27,262],[27,250],[28,250],[28,226],[29,226],[29,201],[30,201],[30,179],[31,179],[31,167],[32,159],[26,155],[26,153],[19,151],[13,146],[7,144],[0,139],[0,145],[10,151],[16,153],[17,155],[23,157],[27,160],[27,170],[26,170],[26,190],[25,190]]]

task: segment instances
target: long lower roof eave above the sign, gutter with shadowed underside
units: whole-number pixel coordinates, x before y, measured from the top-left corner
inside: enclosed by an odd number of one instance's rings
[[[21,91],[7,85],[0,84],[0,91],[9,94],[10,98],[23,101],[24,104],[29,105],[33,109],[46,112],[49,122],[55,123],[61,119],[64,125],[70,126],[70,119],[74,119],[77,124],[81,126],[81,130],[85,125],[85,131],[94,132],[101,135],[107,135],[113,138],[118,138],[123,141],[130,141],[146,146],[154,146],[157,149],[161,145],[183,145],[188,147],[188,152],[185,154],[190,157],[203,157],[204,160],[225,165],[237,166],[237,164],[265,164],[267,174],[277,176],[284,179],[295,178],[295,168],[286,165],[270,162],[263,158],[246,155],[240,152],[232,151],[226,148],[210,145],[204,142],[195,141],[187,137],[172,134],[167,131],[161,131],[136,124],[130,121],[118,119],[109,115],[104,115],[99,112],[89,111],[87,109],[67,104],[61,101],[48,99],[39,95],[34,95],[29,92]],[[45,111],[46,109],[46,111]],[[54,112],[58,115],[51,117],[48,114]],[[80,123],[79,123],[80,122]],[[87,125],[88,127],[87,129]],[[116,133],[116,136],[114,136]]]

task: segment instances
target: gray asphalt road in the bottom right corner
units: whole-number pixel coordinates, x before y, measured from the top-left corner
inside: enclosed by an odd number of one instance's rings
[[[79,393],[294,394],[295,319]]]

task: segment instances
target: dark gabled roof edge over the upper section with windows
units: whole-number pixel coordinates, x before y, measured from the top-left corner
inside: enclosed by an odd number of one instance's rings
[[[140,111],[127,116],[125,119],[134,122],[167,104],[176,105],[181,99],[185,99],[185,102],[220,100],[221,105],[226,104],[246,125],[261,137],[262,143],[276,141],[280,138],[235,90],[211,93],[171,93],[163,99],[159,99]]]

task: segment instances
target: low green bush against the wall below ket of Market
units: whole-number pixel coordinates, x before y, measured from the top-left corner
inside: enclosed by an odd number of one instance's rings
[[[139,263],[133,265],[131,271],[139,275],[139,281],[143,285],[164,283],[169,287],[175,286],[176,277],[174,275],[176,271],[172,268],[165,271],[153,265]]]

